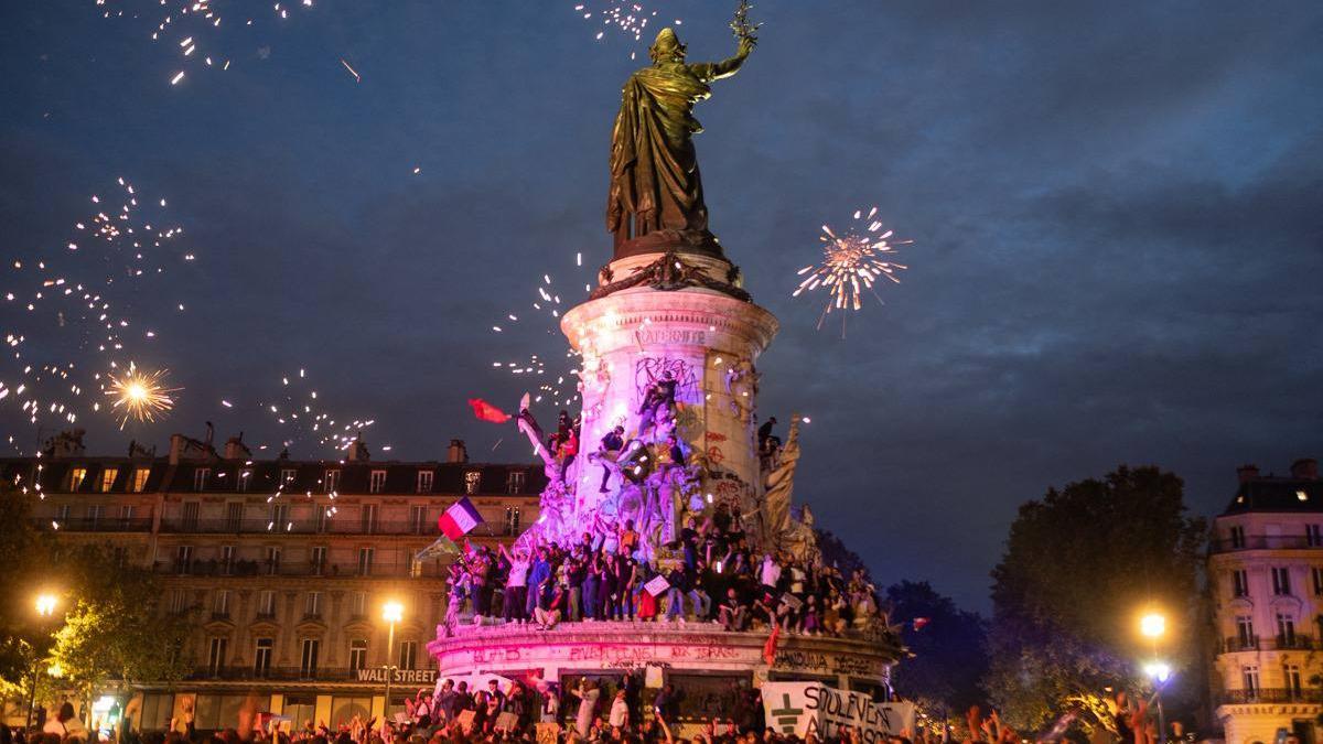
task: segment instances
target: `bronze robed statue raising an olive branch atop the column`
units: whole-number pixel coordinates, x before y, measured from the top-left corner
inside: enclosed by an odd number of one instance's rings
[[[652,66],[624,83],[611,132],[606,204],[617,258],[675,248],[721,253],[708,230],[693,150],[693,135],[703,126],[693,118],[693,105],[712,95],[709,82],[736,74],[754,44],[751,34],[740,36],[734,57],[691,65],[675,30],[662,29],[648,49]]]

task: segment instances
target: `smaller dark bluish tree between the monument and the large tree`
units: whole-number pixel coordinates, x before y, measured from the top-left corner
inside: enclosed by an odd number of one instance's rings
[[[988,666],[986,622],[927,581],[893,584],[886,601],[890,621],[902,626],[901,639],[914,654],[896,667],[896,691],[927,715],[959,725],[970,706],[984,702],[979,684]]]

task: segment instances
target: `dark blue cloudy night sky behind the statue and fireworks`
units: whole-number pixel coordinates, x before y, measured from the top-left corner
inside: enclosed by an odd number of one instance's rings
[[[733,52],[733,0],[644,3],[684,20],[692,61]],[[106,289],[140,323],[118,359],[185,389],[124,433],[83,413],[90,450],[164,451],[208,420],[279,441],[291,430],[258,405],[304,368],[328,409],[376,420],[378,458],[443,458],[452,437],[474,459],[527,457],[466,400],[512,409],[528,380],[492,361],[564,352],[529,302],[544,273],[581,298],[609,257],[610,126],[646,45],[594,41],[570,0],[316,0],[283,21],[271,3],[213,4],[228,17],[194,54],[226,71],[185,65],[179,36],[152,42],[155,0],[112,19],[93,0],[0,4],[5,257],[94,275],[95,250],[65,244],[119,176],[168,197],[197,254]],[[1052,485],[1156,463],[1215,514],[1237,465],[1323,455],[1323,7],[753,13],[762,44],[697,110],[712,226],[782,323],[762,413],[812,418],[795,498],[880,581],[929,579],[986,609],[1016,506]],[[790,291],[820,225],[872,205],[916,240],[912,269],[841,340],[814,328],[823,298]],[[77,318],[21,315],[0,316],[29,355],[105,365]],[[0,426],[38,437],[13,398]]]

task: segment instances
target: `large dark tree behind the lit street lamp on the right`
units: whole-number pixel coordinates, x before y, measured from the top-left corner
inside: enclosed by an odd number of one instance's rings
[[[1020,507],[992,571],[984,683],[1012,725],[1040,729],[1077,708],[1088,724],[1110,727],[1103,690],[1142,683],[1136,622],[1146,608],[1175,625],[1164,649],[1172,666],[1195,661],[1207,527],[1187,516],[1183,490],[1158,467],[1121,466]]]

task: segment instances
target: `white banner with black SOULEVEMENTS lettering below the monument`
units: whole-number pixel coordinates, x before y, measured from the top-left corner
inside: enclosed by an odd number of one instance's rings
[[[864,744],[914,731],[914,703],[875,703],[863,692],[847,692],[818,682],[766,682],[762,699],[767,728],[783,735],[822,741],[843,725],[860,733]]]

